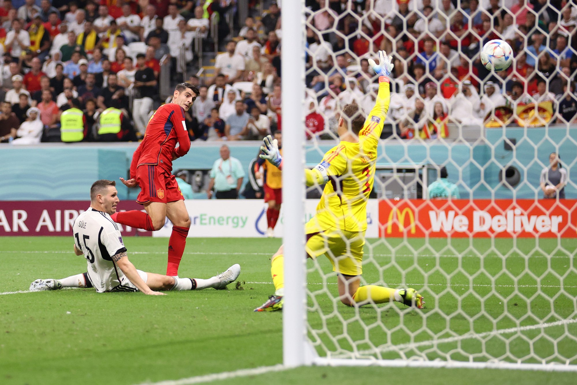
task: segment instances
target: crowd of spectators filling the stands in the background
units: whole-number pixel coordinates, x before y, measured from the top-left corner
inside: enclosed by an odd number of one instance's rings
[[[235,0],[0,1],[0,141],[14,144],[138,140],[161,102],[160,61],[173,83],[198,86],[186,113],[192,140],[260,139],[282,129],[280,6],[264,1],[238,20]],[[574,122],[577,8],[559,0],[307,0],[308,138],[330,136],[340,109],[367,113],[377,83],[368,57],[394,56],[384,136],[444,138],[450,123],[550,102],[550,121]],[[223,53],[213,76],[198,69],[193,40]],[[230,15],[232,17],[225,17]],[[228,21],[227,21],[228,20]],[[230,22],[230,23],[229,23]],[[238,32],[237,32],[238,31]],[[491,39],[514,49],[491,73],[479,50]]]

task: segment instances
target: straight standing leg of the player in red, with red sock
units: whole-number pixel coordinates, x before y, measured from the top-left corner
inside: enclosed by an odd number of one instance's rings
[[[178,266],[186,246],[186,237],[190,229],[190,217],[178,188],[174,175],[166,175],[166,216],[173,223],[173,232],[168,240],[168,264],[166,275],[178,276]]]

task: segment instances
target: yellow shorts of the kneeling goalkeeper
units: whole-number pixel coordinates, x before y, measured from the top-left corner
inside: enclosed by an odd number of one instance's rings
[[[305,227],[306,253],[311,258],[325,254],[331,261],[332,271],[344,275],[361,275],[363,246],[365,246],[364,232],[351,232],[336,228],[319,232],[316,223],[310,222]]]

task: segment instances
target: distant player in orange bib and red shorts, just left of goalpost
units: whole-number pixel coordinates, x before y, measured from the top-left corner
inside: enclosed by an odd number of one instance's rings
[[[275,132],[275,140],[278,142],[279,153],[282,155],[282,134],[280,131]],[[267,236],[271,238],[275,236],[276,221],[279,220],[280,205],[283,203],[283,175],[275,165],[264,158],[258,158],[254,165],[255,172],[258,171],[259,166],[264,169],[264,202],[268,203],[267,209]]]

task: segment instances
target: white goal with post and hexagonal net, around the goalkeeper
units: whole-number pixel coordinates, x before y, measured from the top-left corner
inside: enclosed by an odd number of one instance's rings
[[[310,3],[282,8],[283,113],[306,122],[283,132],[285,362],[577,370],[577,7]],[[492,39],[514,50],[507,71],[480,63]],[[395,68],[361,286],[412,287],[424,309],[343,305],[331,260],[350,249],[337,255],[327,243],[328,259],[301,262],[305,206],[324,186],[295,182],[338,143],[344,105],[365,116],[373,107],[366,59],[378,50]]]

